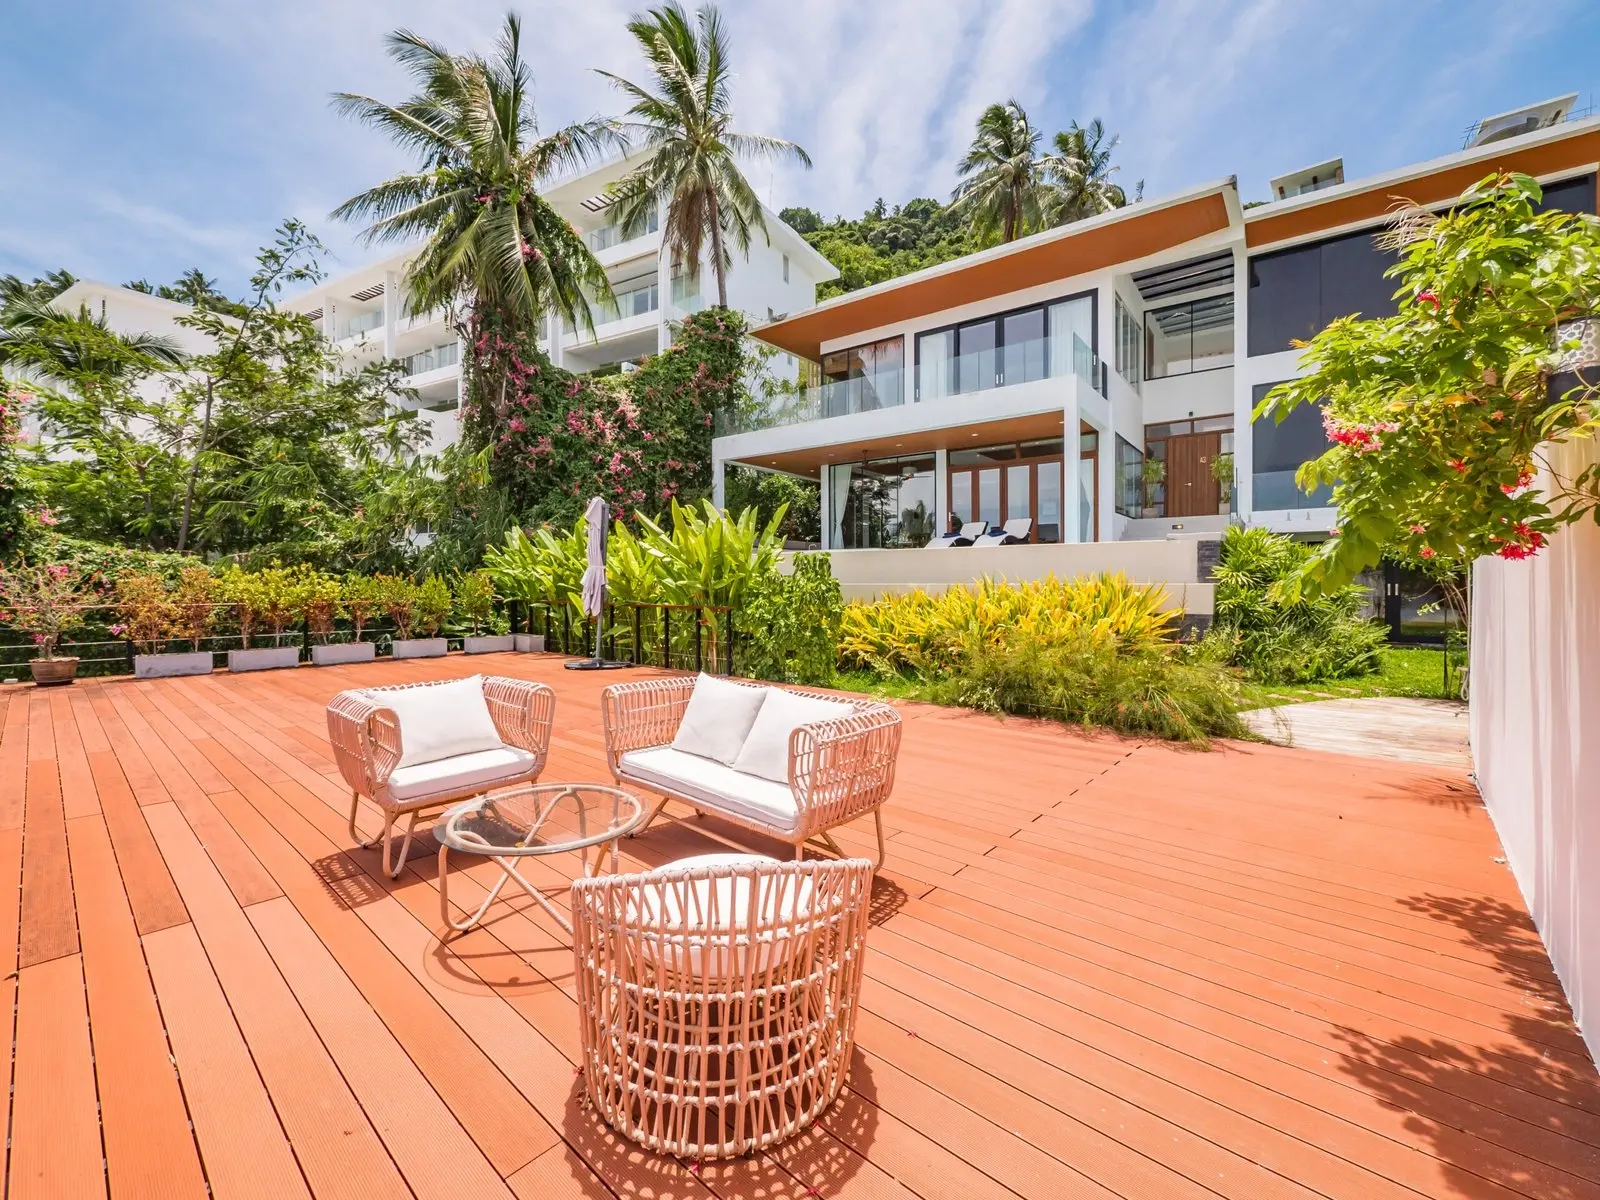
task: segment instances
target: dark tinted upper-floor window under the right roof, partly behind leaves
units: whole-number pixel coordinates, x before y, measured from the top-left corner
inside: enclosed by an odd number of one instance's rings
[[[1595,211],[1595,176],[1563,179],[1544,190],[1541,208]],[[1250,259],[1250,354],[1288,350],[1296,338],[1314,338],[1336,317],[1392,317],[1400,282],[1384,278],[1395,256],[1358,230],[1275,250]]]

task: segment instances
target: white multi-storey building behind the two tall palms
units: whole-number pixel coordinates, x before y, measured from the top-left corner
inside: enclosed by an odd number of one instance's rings
[[[662,248],[659,214],[643,232],[624,237],[610,213],[606,187],[637,165],[638,152],[619,155],[592,170],[555,179],[544,198],[582,234],[605,267],[613,299],[595,301],[594,330],[576,330],[546,318],[542,349],[571,371],[627,363],[666,349],[674,322],[717,301],[715,275],[678,270]],[[749,254],[733,253],[728,269],[728,306],[752,323],[765,323],[816,302],[816,288],[838,275],[795,230],[765,211],[768,237],[757,232]],[[461,347],[443,309],[408,315],[405,250],[357,270],[318,283],[285,307],[322,323],[344,363],[358,370],[379,358],[398,358],[442,448],[459,432]]]

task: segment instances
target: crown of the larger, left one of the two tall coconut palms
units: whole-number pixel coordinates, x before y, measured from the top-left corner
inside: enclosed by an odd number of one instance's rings
[[[414,96],[384,104],[338,93],[334,107],[382,130],[421,165],[350,197],[333,214],[371,221],[368,242],[424,238],[406,270],[414,315],[470,302],[528,325],[554,310],[592,330],[586,291],[611,294],[605,270],[538,187],[619,144],[611,123],[539,133],[514,13],[488,58],[451,54],[405,29],[390,34],[389,56],[411,74]]]

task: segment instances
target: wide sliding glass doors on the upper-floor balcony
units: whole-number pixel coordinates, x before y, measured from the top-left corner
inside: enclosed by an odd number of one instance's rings
[[[1070,373],[1093,386],[1094,298],[1075,296],[917,336],[917,398]]]

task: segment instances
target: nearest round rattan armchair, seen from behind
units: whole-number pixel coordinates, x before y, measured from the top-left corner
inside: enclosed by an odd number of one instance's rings
[[[582,1075],[656,1154],[792,1138],[854,1051],[872,864],[712,854],[573,883]]]

